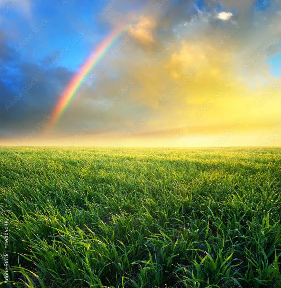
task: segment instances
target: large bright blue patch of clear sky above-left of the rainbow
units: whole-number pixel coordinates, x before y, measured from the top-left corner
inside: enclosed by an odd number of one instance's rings
[[[77,4],[75,0],[71,0],[63,6],[61,1],[48,1],[48,3],[41,1],[31,6],[31,19],[21,18],[19,12],[12,10],[6,14],[8,22],[5,22],[3,27],[6,31],[13,31],[12,35],[7,35],[7,43],[10,47],[18,46],[24,37],[34,34],[32,30],[40,25],[42,19],[46,19],[48,21],[46,26],[34,35],[28,46],[22,48],[19,53],[23,60],[28,61],[32,58],[35,61],[42,61],[44,58],[54,58],[57,52],[69,46],[69,41],[76,37],[79,31],[83,31],[85,37],[77,42],[58,63],[60,66],[75,69],[110,29],[105,27],[106,25],[101,26],[93,19],[93,15],[98,14],[102,9],[103,3],[96,2],[89,7],[90,2]]]

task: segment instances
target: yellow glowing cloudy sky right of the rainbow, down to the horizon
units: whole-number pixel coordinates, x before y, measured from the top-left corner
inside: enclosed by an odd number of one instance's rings
[[[181,7],[159,9],[151,1],[142,8],[141,29],[104,57],[95,81],[81,89],[52,134],[43,127],[23,143],[25,130],[1,144],[281,146],[281,78],[268,64],[280,53],[280,10],[254,11],[252,1],[233,2],[220,1],[225,13],[213,5],[194,19],[196,3],[183,5],[190,10],[183,14]],[[114,25],[120,15],[111,11],[104,21]],[[166,45],[175,35],[179,39]],[[259,56],[246,67],[253,55]],[[132,87],[103,113],[128,81]],[[82,127],[88,130],[76,137]]]

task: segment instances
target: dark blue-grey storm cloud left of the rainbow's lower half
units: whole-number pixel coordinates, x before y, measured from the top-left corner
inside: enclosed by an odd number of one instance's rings
[[[53,109],[72,77],[65,68],[24,62],[0,32],[0,133],[30,130]]]

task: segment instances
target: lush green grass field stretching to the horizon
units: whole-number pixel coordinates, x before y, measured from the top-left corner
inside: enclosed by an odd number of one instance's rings
[[[280,288],[280,169],[276,147],[1,147],[0,286]]]

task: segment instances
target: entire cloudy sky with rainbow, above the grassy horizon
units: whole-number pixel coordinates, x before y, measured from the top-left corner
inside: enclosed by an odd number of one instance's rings
[[[281,0],[0,0],[0,145],[281,146],[280,41]]]

